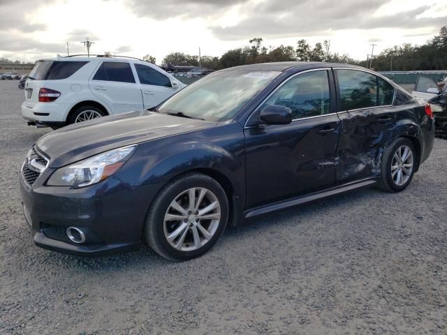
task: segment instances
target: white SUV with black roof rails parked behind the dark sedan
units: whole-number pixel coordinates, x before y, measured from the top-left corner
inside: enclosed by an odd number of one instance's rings
[[[59,57],[36,63],[24,88],[29,125],[59,128],[149,109],[185,87],[158,66],[124,57]]]

